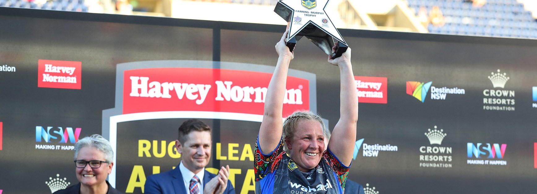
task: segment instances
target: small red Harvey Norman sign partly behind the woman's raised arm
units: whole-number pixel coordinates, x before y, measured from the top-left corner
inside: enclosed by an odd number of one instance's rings
[[[360,103],[388,103],[388,78],[354,76]]]

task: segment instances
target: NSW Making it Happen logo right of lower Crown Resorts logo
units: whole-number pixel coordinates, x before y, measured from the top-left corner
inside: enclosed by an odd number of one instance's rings
[[[503,159],[507,144],[498,143],[468,143],[468,158]],[[468,159],[467,164],[472,165],[507,165],[505,160],[476,160]]]

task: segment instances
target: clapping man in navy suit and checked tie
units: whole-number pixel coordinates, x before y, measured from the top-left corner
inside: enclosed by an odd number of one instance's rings
[[[175,141],[182,161],[175,169],[147,177],[144,193],[235,193],[228,180],[229,166],[218,175],[205,170],[211,159],[211,128],[198,119],[190,119],[179,127]]]

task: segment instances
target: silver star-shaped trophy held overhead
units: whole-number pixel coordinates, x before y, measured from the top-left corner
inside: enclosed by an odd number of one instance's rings
[[[324,11],[329,0],[281,0],[274,12],[288,22],[286,45],[293,51],[296,41],[306,36],[332,58],[340,57],[349,48]],[[319,5],[319,6],[317,6]],[[332,46],[339,42],[336,52]]]

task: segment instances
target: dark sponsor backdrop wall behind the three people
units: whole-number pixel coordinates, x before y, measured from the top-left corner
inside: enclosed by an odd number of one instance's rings
[[[270,73],[277,61],[274,44],[285,26],[5,7],[0,7],[0,26],[0,192],[48,193],[78,183],[70,146],[78,136],[103,134],[115,137],[111,139],[116,146],[111,182],[122,192],[141,193],[147,176],[180,162],[168,146],[175,141],[180,123],[190,118],[184,111],[197,111],[193,117],[209,123],[215,133],[208,167],[229,164],[237,193],[253,193],[249,151],[255,145],[262,109],[253,105],[246,111],[249,104],[237,104],[243,107],[238,110],[222,109],[235,105],[233,100],[215,100],[215,81],[223,74],[193,78],[213,84],[207,98],[212,108],[195,110],[192,102],[173,96],[174,106],[163,110],[173,113],[153,117],[140,114],[141,108],[133,114],[135,119],[125,109],[124,93],[130,91],[130,83],[122,78],[129,69],[149,73],[164,67],[178,72],[184,68],[244,71],[238,79]],[[361,76],[357,77],[357,89],[364,91],[360,100],[366,102],[380,93],[386,99],[386,103],[359,105],[350,180],[379,193],[537,190],[533,184],[537,181],[537,41],[340,32],[352,48],[354,75]],[[290,76],[305,80],[300,85],[308,89],[303,94],[308,104],[302,106],[320,113],[332,129],[339,118],[339,73],[326,58],[313,43],[301,40]],[[43,72],[40,68],[48,64],[44,60],[75,67],[75,72]],[[38,87],[43,82],[39,75],[47,73],[75,77],[76,83],[70,84],[79,84],[80,89],[50,82],[48,87]],[[386,81],[371,81],[378,77]],[[382,83],[385,88],[360,86],[365,82]],[[255,84],[266,87],[268,80],[260,76]],[[164,102],[158,100],[139,106]],[[183,103],[194,110],[182,109]]]

